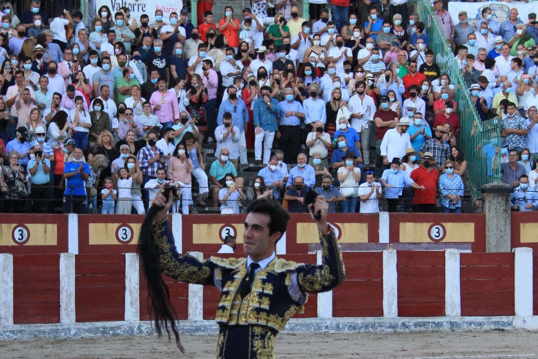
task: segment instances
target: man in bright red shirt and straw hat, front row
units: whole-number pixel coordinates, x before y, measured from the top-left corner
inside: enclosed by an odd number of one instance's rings
[[[411,172],[410,177],[417,185],[424,186],[424,190],[415,191],[411,204],[413,206],[413,212],[434,213],[439,172],[433,166],[434,159],[431,152],[424,153],[422,158],[422,165]]]

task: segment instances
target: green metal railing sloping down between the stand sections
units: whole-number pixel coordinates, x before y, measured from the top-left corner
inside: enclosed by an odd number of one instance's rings
[[[441,72],[448,74],[455,86],[455,101],[461,129],[457,137],[457,144],[462,147],[467,160],[466,175],[472,185],[475,195],[480,195],[483,185],[491,182],[500,182],[500,169],[493,170],[493,158],[499,156],[500,121],[495,119],[482,123],[471,100],[469,90],[463,80],[463,72],[459,69],[452,48],[435,19],[435,14],[428,0],[418,0],[416,10],[420,20],[426,25],[429,48],[436,54],[436,62]],[[473,131],[473,124],[475,130]]]

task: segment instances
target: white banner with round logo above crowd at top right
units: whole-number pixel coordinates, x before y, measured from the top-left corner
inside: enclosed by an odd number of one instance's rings
[[[476,3],[462,3],[462,2],[455,2],[455,1],[449,1],[448,2],[448,12],[450,13],[450,17],[452,17],[452,21],[454,24],[459,23],[458,19],[458,13],[460,11],[466,11],[467,16],[469,17],[469,24],[476,24],[476,27],[480,26],[480,20],[482,19],[482,9],[484,8],[490,8],[491,13],[493,14],[493,19],[497,21],[499,24],[502,23],[504,20],[508,18],[508,13],[510,12],[510,9],[516,8],[519,12],[519,18],[523,22],[523,24],[527,24],[529,21],[528,15],[531,12],[538,12],[538,2],[511,2],[511,3],[504,3],[504,2],[497,2],[497,1],[491,1],[491,2],[476,2]]]

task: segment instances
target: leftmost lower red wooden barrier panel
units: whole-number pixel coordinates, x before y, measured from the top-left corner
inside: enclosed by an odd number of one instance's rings
[[[13,323],[59,322],[60,256],[14,255]]]

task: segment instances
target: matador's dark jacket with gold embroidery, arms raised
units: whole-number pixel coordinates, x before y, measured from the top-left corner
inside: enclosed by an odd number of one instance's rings
[[[215,285],[221,291],[216,321],[227,325],[259,325],[275,332],[306,302],[307,293],[329,291],[344,280],[342,253],[334,234],[319,233],[322,264],[285,261],[275,257],[256,273],[244,298],[239,284],[247,273],[246,258],[210,257],[203,262],[176,251],[168,221],[154,226],[162,271],[188,283]]]

